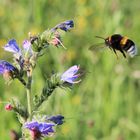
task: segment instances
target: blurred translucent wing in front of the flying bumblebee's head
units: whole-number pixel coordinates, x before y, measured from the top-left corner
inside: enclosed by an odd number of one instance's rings
[[[106,48],[105,43],[98,43],[98,44],[91,45],[88,49],[90,51],[93,51],[94,52],[94,51],[102,50],[104,48]]]

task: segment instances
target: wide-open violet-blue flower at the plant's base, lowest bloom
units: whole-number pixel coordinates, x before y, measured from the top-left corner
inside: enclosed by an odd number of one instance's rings
[[[27,122],[25,123],[24,127],[28,128],[32,132],[32,136],[36,138],[40,138],[42,136],[49,136],[50,134],[54,133],[53,123],[46,123],[46,122]]]

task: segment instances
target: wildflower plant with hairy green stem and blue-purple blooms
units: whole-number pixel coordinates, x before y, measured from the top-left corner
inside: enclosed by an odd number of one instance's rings
[[[80,67],[75,65],[63,74],[53,74],[49,79],[46,79],[40,95],[32,94],[32,75],[37,59],[43,56],[45,49],[48,47],[51,49],[52,46],[64,47],[59,30],[67,32],[73,27],[74,22],[67,20],[39,35],[29,33],[29,39],[23,41],[22,47],[19,47],[15,39],[11,39],[4,46],[5,51],[13,54],[14,62],[0,60],[0,74],[3,75],[7,83],[18,79],[25,87],[27,94],[27,105],[23,105],[15,99],[5,105],[7,111],[14,111],[17,114],[18,121],[22,126],[22,139],[40,140],[52,136],[55,133],[55,127],[64,123],[64,116],[47,116],[47,114],[41,114],[39,110],[42,103],[47,101],[56,88],[70,87],[80,82],[78,80]]]

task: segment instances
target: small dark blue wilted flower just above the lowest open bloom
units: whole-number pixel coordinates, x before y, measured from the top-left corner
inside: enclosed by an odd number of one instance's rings
[[[52,121],[57,125],[62,125],[64,123],[64,116],[62,115],[51,116],[47,118],[47,120]]]

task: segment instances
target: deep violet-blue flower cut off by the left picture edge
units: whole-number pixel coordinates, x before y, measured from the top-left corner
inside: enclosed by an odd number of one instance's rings
[[[16,71],[16,68],[5,60],[0,60],[0,74]]]

